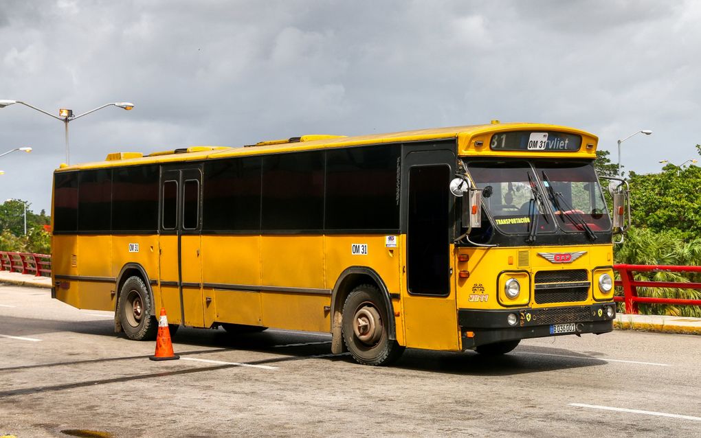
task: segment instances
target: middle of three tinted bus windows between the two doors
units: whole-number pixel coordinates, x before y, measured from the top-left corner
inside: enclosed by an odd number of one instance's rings
[[[263,158],[263,229],[320,230],[323,223],[323,151]]]

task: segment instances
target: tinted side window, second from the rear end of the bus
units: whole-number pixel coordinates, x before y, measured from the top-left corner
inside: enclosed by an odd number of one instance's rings
[[[110,231],[112,170],[86,170],[78,184],[78,230]]]

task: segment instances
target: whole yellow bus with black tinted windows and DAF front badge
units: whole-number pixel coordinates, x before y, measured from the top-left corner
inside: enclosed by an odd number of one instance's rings
[[[53,297],[135,340],[165,308],[173,327],[330,332],[371,365],[605,333],[625,191],[612,224],[597,141],[494,121],[61,165]]]

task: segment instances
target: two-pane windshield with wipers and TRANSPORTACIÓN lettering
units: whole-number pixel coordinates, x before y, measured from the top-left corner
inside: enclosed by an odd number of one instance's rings
[[[482,200],[503,233],[553,232],[555,223],[567,233],[611,229],[601,186],[590,163],[474,161],[468,163],[468,171],[480,189],[491,186],[491,196]]]

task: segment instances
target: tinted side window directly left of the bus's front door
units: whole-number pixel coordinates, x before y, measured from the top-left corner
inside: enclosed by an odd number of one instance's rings
[[[325,228],[399,228],[399,160],[399,145],[327,151]]]

